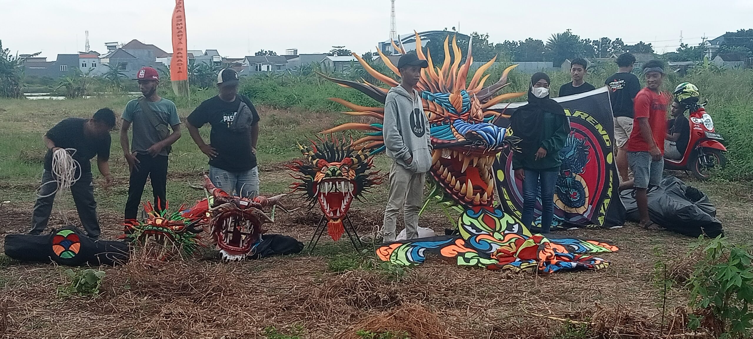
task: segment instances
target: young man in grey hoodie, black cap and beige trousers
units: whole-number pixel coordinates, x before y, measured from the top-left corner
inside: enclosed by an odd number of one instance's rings
[[[398,212],[403,210],[407,239],[419,237],[419,209],[423,200],[425,173],[431,168],[428,118],[415,90],[421,69],[428,67],[415,53],[398,60],[402,83],[392,87],[384,104],[384,145],[392,158],[389,170],[389,200],[384,211],[383,241],[395,241]]]

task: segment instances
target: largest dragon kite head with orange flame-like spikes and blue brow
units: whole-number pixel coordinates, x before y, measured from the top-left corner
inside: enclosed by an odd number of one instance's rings
[[[419,59],[427,60],[428,68],[422,69],[421,80],[417,85],[421,93],[425,114],[431,125],[431,143],[434,148],[431,177],[437,188],[444,191],[444,197],[454,200],[462,206],[492,206],[494,200],[494,176],[492,163],[496,155],[510,147],[511,139],[505,139],[505,128],[491,124],[492,119],[499,115],[489,108],[506,99],[523,96],[525,93],[507,93],[493,96],[495,92],[508,85],[508,74],[515,66],[510,66],[502,73],[495,84],[484,87],[489,75],[483,75],[496,60],[480,66],[468,81],[468,73],[473,64],[471,43],[468,44],[468,55],[461,65],[462,52],[453,38],[450,54],[449,36],[444,41],[444,63],[441,67],[434,66],[431,53],[422,51],[421,38],[416,33],[416,53]],[[404,53],[393,43],[395,50]],[[400,76],[400,71],[379,51],[386,66]],[[388,86],[400,84],[393,78],[377,72],[360,56],[353,54],[366,71]],[[370,96],[378,102],[385,102],[389,89],[377,87],[373,84],[346,81],[326,77],[344,87],[352,87]],[[492,97],[493,96],[493,97]],[[355,105],[343,99],[332,98],[350,108],[348,115],[368,116],[380,121],[373,124],[347,123],[325,130],[322,133],[335,133],[343,130],[364,130],[366,136],[353,142],[356,149],[370,149],[371,154],[384,150],[383,139],[383,107],[365,107]]]

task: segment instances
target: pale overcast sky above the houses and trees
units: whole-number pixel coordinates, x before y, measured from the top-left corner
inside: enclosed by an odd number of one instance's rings
[[[334,45],[364,53],[389,39],[389,0],[277,0],[216,2],[185,0],[191,49],[219,50],[241,57],[266,49],[285,53],[326,52]],[[221,5],[217,5],[221,4]],[[105,42],[138,39],[167,52],[171,0],[0,0],[0,39],[13,52],[57,53],[92,50]],[[566,29],[581,38],[652,42],[657,52],[706,35],[753,28],[753,0],[396,0],[398,34],[459,26],[460,32],[488,33],[489,40],[546,39]],[[249,53],[250,52],[250,53]]]

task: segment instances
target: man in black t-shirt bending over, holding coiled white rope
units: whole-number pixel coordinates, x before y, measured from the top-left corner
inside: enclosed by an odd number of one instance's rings
[[[110,131],[114,126],[114,112],[110,108],[102,108],[96,111],[91,119],[67,118],[47,131],[43,138],[44,145],[47,146],[47,155],[44,157],[42,185],[32,211],[32,229],[29,234],[41,234],[44,228],[47,228],[58,188],[52,172],[53,152],[62,148],[72,153],[73,160],[78,162],[75,169],[75,177],[78,177],[78,180],[71,186],[71,195],[76,204],[78,217],[81,218],[81,225],[87,231],[87,236],[94,239],[99,237],[89,160],[97,157],[99,173],[105,177],[105,187],[108,187],[112,183],[108,160]]]

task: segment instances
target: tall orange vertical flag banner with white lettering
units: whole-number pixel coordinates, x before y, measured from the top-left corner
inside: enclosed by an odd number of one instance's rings
[[[172,60],[170,81],[175,95],[188,96],[188,53],[186,44],[186,16],[183,0],[175,0],[172,10]]]

